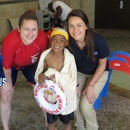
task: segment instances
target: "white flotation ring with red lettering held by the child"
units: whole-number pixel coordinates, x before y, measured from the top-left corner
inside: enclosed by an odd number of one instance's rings
[[[49,103],[44,98],[44,91],[51,91],[56,97],[56,103]],[[44,87],[40,87],[38,83],[34,87],[34,97],[38,105],[47,113],[58,115],[61,114],[67,105],[67,100],[65,93],[63,90],[53,81],[46,80],[46,85]]]

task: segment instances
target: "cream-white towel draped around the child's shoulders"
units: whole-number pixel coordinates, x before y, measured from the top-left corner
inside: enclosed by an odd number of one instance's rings
[[[51,48],[44,51],[40,57],[38,67],[35,73],[35,80],[38,82],[38,75],[43,72],[44,59],[46,55],[51,51]],[[62,87],[67,97],[67,107],[62,115],[67,115],[73,112],[77,108],[76,101],[76,84],[77,84],[77,69],[74,60],[74,56],[65,48],[64,49],[64,67],[59,72],[56,69],[49,68],[46,72],[46,76],[55,74],[56,83]]]

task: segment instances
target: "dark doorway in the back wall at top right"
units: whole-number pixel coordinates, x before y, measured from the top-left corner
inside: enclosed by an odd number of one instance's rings
[[[96,0],[95,28],[130,29],[130,0]]]

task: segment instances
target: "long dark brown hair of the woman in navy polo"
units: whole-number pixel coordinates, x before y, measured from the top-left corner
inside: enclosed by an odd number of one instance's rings
[[[72,10],[68,16],[67,16],[67,23],[69,21],[69,18],[71,17],[79,17],[83,20],[83,22],[85,23],[85,25],[87,26],[87,30],[85,32],[85,38],[84,41],[86,43],[85,48],[87,51],[87,57],[89,57],[91,60],[94,60],[94,36],[93,36],[93,30],[90,28],[89,26],[89,20],[87,15],[85,14],[84,11],[80,10],[80,9],[74,9]],[[73,49],[73,43],[74,43],[74,39],[70,36],[69,34],[69,44],[67,46],[67,48],[70,50],[71,53],[74,53],[74,49]]]

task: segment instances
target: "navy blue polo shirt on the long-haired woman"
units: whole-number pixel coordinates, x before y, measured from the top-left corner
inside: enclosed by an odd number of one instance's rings
[[[74,57],[77,65],[78,72],[83,74],[94,74],[99,64],[99,59],[106,58],[110,55],[110,51],[106,40],[94,33],[94,55],[95,60],[92,61],[87,57],[87,50],[84,48],[81,50],[76,42],[74,42]],[[109,71],[108,61],[105,71]]]

